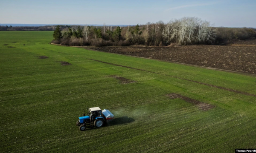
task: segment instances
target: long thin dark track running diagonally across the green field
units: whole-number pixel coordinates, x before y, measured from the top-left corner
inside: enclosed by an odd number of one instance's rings
[[[102,62],[102,63],[109,64],[109,65],[115,65],[115,66],[119,66],[119,67],[130,68],[130,69],[145,71],[145,72],[154,73],[154,74],[160,74],[160,73],[157,73],[157,72],[147,71],[147,70],[143,70],[143,69],[139,69],[139,68],[132,68],[132,67],[129,67],[129,66],[117,65],[117,64],[110,63],[110,62],[103,62],[103,61],[96,60],[96,59],[90,59],[90,60],[93,60],[93,61],[96,61],[96,62]],[[160,74],[160,75],[169,76],[169,77],[173,77],[173,78],[177,78],[177,79],[182,79],[182,80],[186,80],[186,81],[190,81],[190,82],[195,82],[195,83],[199,83],[201,85],[207,85],[207,86],[210,86],[210,87],[214,87],[214,88],[218,88],[218,89],[222,89],[222,90],[226,90],[226,91],[231,91],[231,92],[234,92],[234,93],[237,93],[237,94],[244,94],[244,95],[247,95],[247,96],[256,97],[255,94],[250,94],[250,93],[243,92],[243,91],[237,91],[237,90],[233,90],[233,89],[229,89],[229,88],[224,88],[224,87],[220,87],[220,86],[217,86],[217,85],[210,85],[210,84],[207,84],[207,83],[198,82],[198,81],[194,81],[194,80],[190,80],[190,79],[184,79],[184,78],[181,78],[181,77],[175,77],[175,76],[168,75],[168,74]]]

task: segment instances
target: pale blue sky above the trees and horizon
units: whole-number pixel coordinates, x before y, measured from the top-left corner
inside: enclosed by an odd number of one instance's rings
[[[0,0],[0,23],[135,25],[181,17],[256,28],[256,0]]]

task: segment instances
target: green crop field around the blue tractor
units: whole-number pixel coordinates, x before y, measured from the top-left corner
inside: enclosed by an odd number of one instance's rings
[[[256,148],[256,97],[209,86],[255,95],[256,77],[50,45],[52,33],[0,31],[0,152],[232,153]],[[121,84],[110,75],[136,82]],[[171,93],[215,108],[200,110],[166,96]],[[116,120],[80,131],[76,121],[83,109],[98,106]]]

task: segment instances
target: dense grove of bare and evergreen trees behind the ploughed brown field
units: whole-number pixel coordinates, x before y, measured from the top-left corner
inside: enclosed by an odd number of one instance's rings
[[[177,46],[193,44],[221,44],[230,40],[256,38],[254,28],[215,28],[197,17],[183,17],[168,23],[112,27],[71,26],[56,27],[52,43],[72,46],[150,45]]]

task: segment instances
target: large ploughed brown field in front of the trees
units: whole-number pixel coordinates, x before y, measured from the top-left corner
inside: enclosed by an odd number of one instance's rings
[[[97,47],[93,50],[256,74],[256,40],[229,45]]]

